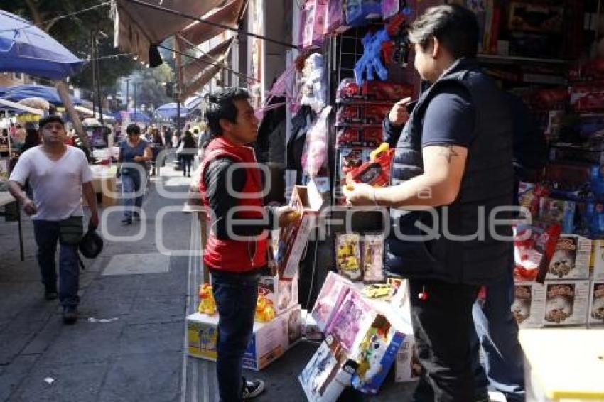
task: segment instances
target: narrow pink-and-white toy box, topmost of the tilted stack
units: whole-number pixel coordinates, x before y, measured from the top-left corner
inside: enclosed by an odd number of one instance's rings
[[[325,331],[325,328],[330,325],[337,310],[335,306],[342,303],[352,286],[352,282],[337,273],[328,273],[311,311],[311,316],[321,331]]]

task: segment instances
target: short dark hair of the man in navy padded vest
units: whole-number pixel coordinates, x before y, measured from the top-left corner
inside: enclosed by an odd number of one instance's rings
[[[456,4],[430,7],[411,24],[409,40],[426,49],[437,38],[453,58],[473,58],[478,52],[478,20]]]

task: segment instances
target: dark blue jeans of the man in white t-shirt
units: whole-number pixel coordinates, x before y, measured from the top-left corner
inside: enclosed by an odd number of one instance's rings
[[[57,288],[57,269],[55,255],[59,239],[59,222],[33,220],[33,234],[38,244],[38,265],[42,274],[42,283],[47,290]],[[75,306],[80,301],[77,288],[80,284],[80,265],[77,259],[77,246],[60,243],[59,264],[59,300],[64,306]]]

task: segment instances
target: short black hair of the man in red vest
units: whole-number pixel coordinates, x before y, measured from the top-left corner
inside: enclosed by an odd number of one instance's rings
[[[211,138],[222,135],[220,120],[225,119],[232,123],[237,121],[237,106],[234,102],[244,99],[249,99],[249,93],[238,87],[223,88],[209,95],[210,106],[206,116]]]

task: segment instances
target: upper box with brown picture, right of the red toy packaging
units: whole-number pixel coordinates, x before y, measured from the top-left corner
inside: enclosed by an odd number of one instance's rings
[[[591,240],[578,234],[561,234],[551,257],[546,279],[587,279]]]

